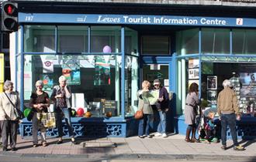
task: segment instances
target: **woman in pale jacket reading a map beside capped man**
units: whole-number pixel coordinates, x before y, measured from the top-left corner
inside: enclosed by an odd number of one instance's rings
[[[147,100],[147,93],[149,93],[150,82],[144,80],[142,83],[142,89],[137,92],[139,99],[138,110],[142,110],[144,113],[143,118],[139,121],[139,130],[138,136],[140,138],[150,137],[149,128],[150,128],[150,119],[153,114],[152,107],[150,102]]]

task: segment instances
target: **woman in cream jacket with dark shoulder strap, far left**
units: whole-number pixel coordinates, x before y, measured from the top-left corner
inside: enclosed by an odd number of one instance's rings
[[[0,124],[2,129],[3,151],[7,151],[9,135],[11,150],[17,150],[16,140],[19,120],[17,118],[16,109],[20,109],[20,100],[19,94],[17,92],[13,92],[12,89],[13,83],[6,80],[4,84],[5,92],[0,93]]]

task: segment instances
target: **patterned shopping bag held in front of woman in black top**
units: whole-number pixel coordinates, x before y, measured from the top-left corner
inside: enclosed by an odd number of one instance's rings
[[[41,113],[40,116],[41,123],[43,123],[43,127],[46,128],[55,128],[56,127],[56,120],[55,120],[55,113]]]

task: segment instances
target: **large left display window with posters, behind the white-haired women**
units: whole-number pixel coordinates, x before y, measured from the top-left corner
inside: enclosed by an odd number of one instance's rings
[[[81,107],[92,116],[121,115],[120,56],[25,55],[24,60],[25,104],[35,90],[36,80],[43,80],[43,90],[50,95],[64,75],[71,86],[73,109]]]

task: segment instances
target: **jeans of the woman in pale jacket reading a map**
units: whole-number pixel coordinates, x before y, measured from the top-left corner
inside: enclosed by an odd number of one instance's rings
[[[150,114],[144,114],[143,118],[139,121],[138,136],[143,136],[144,134],[146,134],[146,136],[149,135],[150,118]]]

